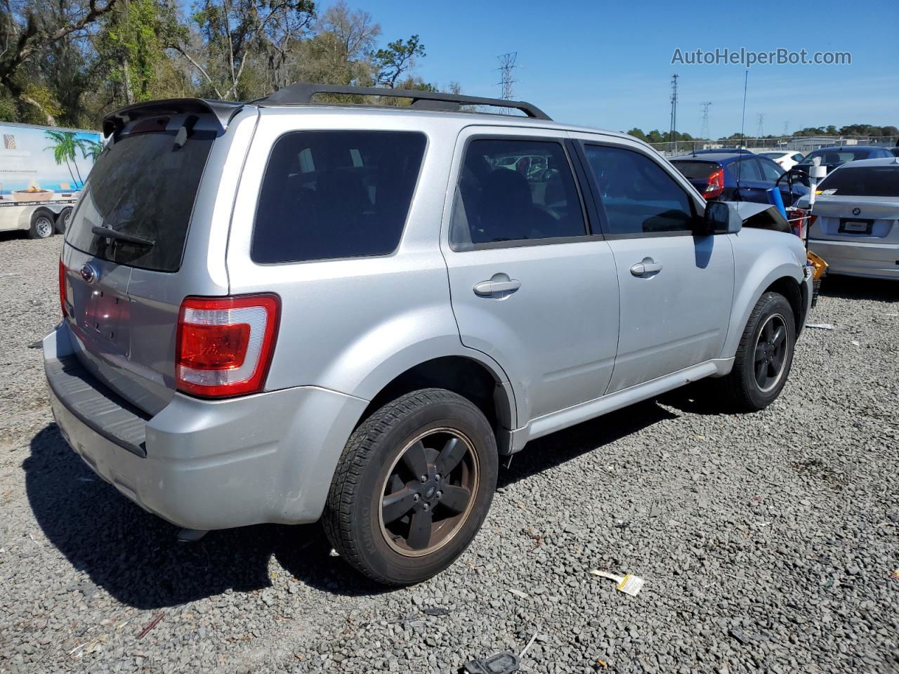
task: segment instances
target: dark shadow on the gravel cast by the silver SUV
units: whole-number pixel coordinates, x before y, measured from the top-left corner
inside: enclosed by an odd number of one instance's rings
[[[498,486],[674,416],[652,402],[636,404],[535,440],[500,472]],[[77,589],[90,591],[93,584],[123,604],[145,610],[173,607],[228,590],[270,587],[274,556],[298,581],[320,590],[347,596],[390,591],[330,556],[331,545],[317,524],[225,529],[195,543],[180,543],[177,527],[141,510],[93,474],[54,423],[31,439],[31,455],[22,467],[40,528],[89,579]]]

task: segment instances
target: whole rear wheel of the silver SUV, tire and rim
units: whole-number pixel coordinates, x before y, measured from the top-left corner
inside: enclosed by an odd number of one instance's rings
[[[325,534],[374,581],[425,581],[481,528],[498,463],[493,429],[466,398],[441,388],[403,395],[348,440],[325,504]]]

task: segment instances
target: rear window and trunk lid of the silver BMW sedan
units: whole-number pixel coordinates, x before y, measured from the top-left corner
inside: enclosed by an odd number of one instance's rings
[[[818,190],[811,238],[899,244],[899,165],[843,166]]]

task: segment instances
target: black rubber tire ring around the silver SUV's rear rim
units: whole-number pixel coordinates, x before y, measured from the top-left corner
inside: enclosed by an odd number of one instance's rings
[[[475,502],[467,520],[445,545],[430,554],[405,556],[387,545],[381,532],[383,485],[399,452],[423,432],[439,428],[458,430],[471,442],[479,475],[473,496]],[[352,521],[364,523],[355,528],[354,537],[356,548],[370,571],[388,582],[410,584],[430,578],[453,563],[484,522],[493,500],[498,463],[493,430],[474,405],[462,400],[425,405],[405,415],[381,435],[369,453],[351,513]]]

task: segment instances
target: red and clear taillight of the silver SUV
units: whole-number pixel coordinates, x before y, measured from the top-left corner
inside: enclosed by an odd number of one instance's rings
[[[209,398],[257,393],[274,353],[277,295],[186,297],[178,315],[178,389]]]

